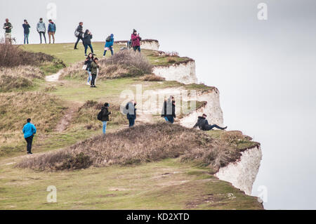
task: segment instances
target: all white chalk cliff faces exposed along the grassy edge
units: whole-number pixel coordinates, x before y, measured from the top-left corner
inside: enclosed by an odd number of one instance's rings
[[[154,74],[164,77],[167,81],[178,81],[183,84],[196,84],[197,76],[195,74],[195,61],[189,60],[187,62],[178,62],[168,66],[154,67]],[[179,88],[164,89],[164,94],[172,95]],[[168,92],[168,93],[166,93]],[[223,126],[223,112],[220,108],[220,93],[217,88],[209,91],[197,91],[195,96],[188,96],[187,101],[197,100],[205,101],[206,105],[197,109],[185,117],[180,119],[180,124],[187,128],[192,128],[197,122],[197,117],[206,114],[209,123],[218,124]],[[225,180],[240,190],[244,191],[247,195],[251,195],[252,187],[262,159],[262,151],[260,145],[249,148],[242,152],[242,156],[236,162],[228,164],[228,166],[219,169],[216,176],[220,180]]]

